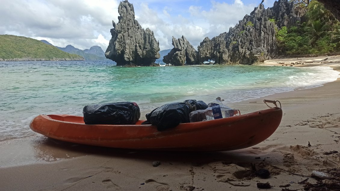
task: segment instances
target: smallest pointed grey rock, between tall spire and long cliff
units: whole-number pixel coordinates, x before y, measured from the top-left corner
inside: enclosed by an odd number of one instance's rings
[[[179,39],[172,37],[174,48],[164,56],[163,62],[174,66],[193,65],[198,63],[198,52],[190,42],[182,36]]]

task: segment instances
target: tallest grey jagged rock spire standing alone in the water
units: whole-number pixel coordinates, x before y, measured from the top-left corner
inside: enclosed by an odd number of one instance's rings
[[[118,23],[112,21],[112,38],[105,51],[105,56],[117,63],[117,66],[151,66],[159,58],[159,42],[153,32],[144,30],[135,19],[133,4],[127,0],[118,7]]]

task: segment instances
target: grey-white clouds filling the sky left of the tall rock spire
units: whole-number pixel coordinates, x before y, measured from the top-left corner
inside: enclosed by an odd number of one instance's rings
[[[111,20],[118,22],[118,0],[10,0],[0,6],[0,34],[46,39],[61,47],[106,50],[108,43],[98,39],[111,38]]]

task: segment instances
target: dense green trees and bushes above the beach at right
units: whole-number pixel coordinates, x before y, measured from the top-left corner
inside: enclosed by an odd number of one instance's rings
[[[340,22],[322,3],[316,0],[300,1],[295,6],[307,9],[306,22],[275,30],[279,52],[288,55],[340,52]]]

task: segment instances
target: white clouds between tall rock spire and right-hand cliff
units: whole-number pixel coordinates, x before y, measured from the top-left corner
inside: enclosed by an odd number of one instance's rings
[[[244,5],[241,0],[235,0],[233,4],[211,1],[210,10],[203,10],[202,6],[189,6],[189,17],[183,15],[172,15],[164,8],[162,13],[151,10],[147,3],[142,3],[136,18],[142,27],[149,27],[159,40],[161,50],[172,49],[172,36],[180,38],[184,35],[190,44],[197,49],[203,39],[208,36],[212,38],[223,32],[228,32],[246,14],[250,14],[255,4]],[[135,9],[136,11],[136,9]]]

